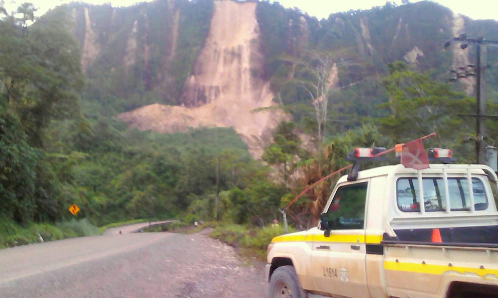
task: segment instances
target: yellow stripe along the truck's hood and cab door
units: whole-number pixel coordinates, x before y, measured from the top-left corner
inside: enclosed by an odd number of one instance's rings
[[[382,240],[380,235],[282,235],[272,239],[272,243],[276,242],[336,242],[336,243],[368,243],[379,244]]]

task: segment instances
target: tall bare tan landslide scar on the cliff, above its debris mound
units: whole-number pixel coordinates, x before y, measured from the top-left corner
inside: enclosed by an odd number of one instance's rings
[[[257,76],[264,60],[255,9],[254,2],[215,2],[206,43],[184,84],[180,101],[186,106],[227,100],[257,103],[268,96],[262,94],[265,82]]]

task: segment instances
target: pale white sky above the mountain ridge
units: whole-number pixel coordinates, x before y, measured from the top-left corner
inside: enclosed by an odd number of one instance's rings
[[[9,5],[12,0],[4,0],[6,8],[14,9],[17,5]],[[114,7],[130,6],[139,2],[149,2],[150,0],[137,1],[137,0],[86,0],[82,2],[91,4],[104,4],[110,3]],[[273,0],[272,0],[273,1]],[[391,1],[391,0],[390,0]],[[39,8],[39,15],[45,13],[48,9],[54,8],[63,3],[69,3],[68,0],[15,0],[16,3],[31,2],[35,7]],[[278,1],[284,7],[297,7],[302,12],[307,12],[311,16],[316,16],[318,19],[323,17],[327,18],[329,14],[335,12],[348,11],[350,9],[370,9],[374,6],[384,6],[386,0],[280,0]],[[398,5],[401,0],[394,0]],[[410,2],[417,2],[410,0]],[[492,18],[498,20],[498,1],[496,0],[435,0],[441,5],[449,7],[456,13],[467,15],[474,20],[485,20]]]

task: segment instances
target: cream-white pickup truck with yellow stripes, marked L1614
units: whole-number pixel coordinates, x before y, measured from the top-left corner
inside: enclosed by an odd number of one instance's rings
[[[341,177],[316,228],[269,245],[270,297],[498,296],[497,181],[461,164]]]

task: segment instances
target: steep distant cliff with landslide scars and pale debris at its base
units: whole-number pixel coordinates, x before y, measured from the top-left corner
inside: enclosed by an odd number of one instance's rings
[[[230,0],[67,8],[83,69],[99,85],[88,94],[105,104],[108,98],[133,101],[114,107],[126,111],[118,118],[163,133],[233,126],[255,157],[286,117],[255,109],[275,105],[274,97],[285,102],[279,95],[298,71],[293,61],[309,48],[337,53],[332,87],[341,90],[380,78],[395,60],[436,68],[447,78],[450,67],[472,59],[457,44],[445,51],[444,40],[463,32],[493,39],[498,32],[496,22],[482,27],[430,2],[337,13],[321,21],[278,4]],[[461,80],[469,94],[471,80]]]

